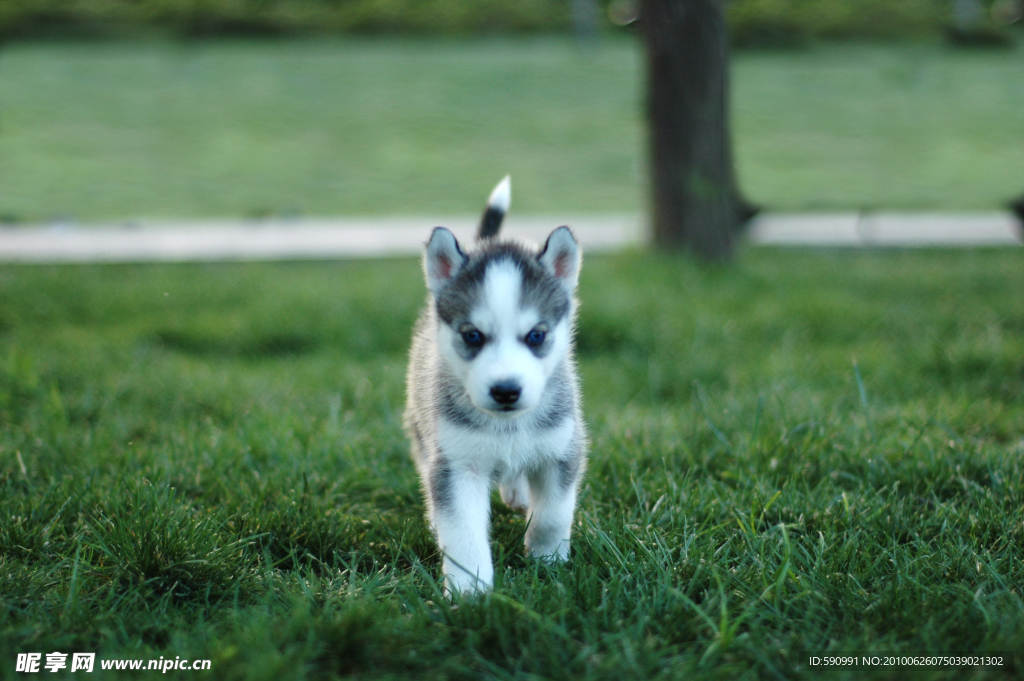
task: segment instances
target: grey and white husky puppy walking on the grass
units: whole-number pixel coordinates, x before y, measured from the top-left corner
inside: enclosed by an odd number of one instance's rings
[[[475,248],[435,227],[423,259],[430,293],[410,352],[404,423],[450,593],[494,584],[495,484],[526,512],[528,553],[567,558],[586,463],[572,359],[580,247],[565,226],[540,249],[498,241],[510,203],[506,177]]]

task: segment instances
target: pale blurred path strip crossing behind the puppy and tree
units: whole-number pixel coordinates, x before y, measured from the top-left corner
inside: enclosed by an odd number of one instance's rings
[[[589,252],[642,246],[639,215],[510,216],[504,235],[542,242],[573,227]],[[472,240],[476,217],[151,220],[0,228],[4,262],[145,262],[379,258],[416,255],[434,225]],[[1021,245],[1010,213],[766,214],[750,225],[754,246],[978,247]]]

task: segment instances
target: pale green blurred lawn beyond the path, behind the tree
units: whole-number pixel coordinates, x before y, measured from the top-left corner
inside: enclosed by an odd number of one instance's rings
[[[740,53],[740,179],[777,210],[1001,207],[1024,50]],[[521,213],[645,202],[637,45],[561,38],[14,43],[0,217]]]

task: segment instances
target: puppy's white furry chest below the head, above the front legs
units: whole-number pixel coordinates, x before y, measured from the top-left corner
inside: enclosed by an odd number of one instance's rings
[[[571,418],[551,428],[524,424],[514,429],[469,429],[442,423],[437,430],[437,444],[450,461],[480,472],[515,476],[541,463],[565,459],[574,431]]]

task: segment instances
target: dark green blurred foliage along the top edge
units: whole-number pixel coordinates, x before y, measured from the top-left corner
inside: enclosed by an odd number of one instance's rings
[[[635,17],[635,0],[597,0],[606,29]],[[986,0],[994,25],[1020,23],[1021,0]],[[948,0],[731,0],[739,47],[814,39],[927,38],[949,24]],[[567,0],[2,0],[0,39],[565,32]]]

